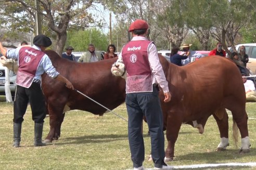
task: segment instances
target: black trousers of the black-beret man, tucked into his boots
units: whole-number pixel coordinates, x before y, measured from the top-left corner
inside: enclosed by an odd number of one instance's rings
[[[32,82],[30,88],[17,85],[16,100],[14,102],[14,122],[22,123],[23,116],[30,103],[32,119],[35,123],[43,123],[46,116],[44,95],[40,83]]]

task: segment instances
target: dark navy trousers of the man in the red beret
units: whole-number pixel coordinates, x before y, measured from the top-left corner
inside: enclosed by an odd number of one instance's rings
[[[164,134],[163,116],[158,97],[158,90],[153,92],[126,94],[126,108],[128,112],[128,137],[133,167],[142,166],[145,159],[145,148],[142,134],[143,115],[146,116],[151,138],[151,155],[155,167],[162,167],[164,163]]]

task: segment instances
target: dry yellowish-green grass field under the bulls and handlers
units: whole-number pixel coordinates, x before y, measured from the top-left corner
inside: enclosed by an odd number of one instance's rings
[[[0,100],[3,101],[3,98]],[[170,165],[193,165],[210,163],[256,162],[256,103],[247,103],[251,150],[238,154],[232,137],[232,117],[229,114],[229,147],[216,152],[220,142],[219,130],[211,116],[204,133],[190,125],[182,125],[175,145],[175,160]],[[127,119],[125,105],[114,111]],[[103,117],[85,111],[69,111],[62,123],[59,140],[46,147],[33,147],[34,123],[28,107],[21,133],[21,147],[12,147],[12,104],[0,102],[0,169],[132,169],[127,139],[127,122],[111,112]],[[49,132],[49,118],[45,119],[43,137]],[[150,153],[150,137],[144,123],[146,148],[144,166],[152,168],[147,161]],[[167,144],[167,142],[165,142]],[[240,139],[239,139],[240,147]],[[206,169],[206,168],[201,168]],[[208,169],[256,169],[256,167],[218,167]]]

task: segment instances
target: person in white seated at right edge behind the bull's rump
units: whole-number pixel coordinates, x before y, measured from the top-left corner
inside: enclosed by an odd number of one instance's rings
[[[247,80],[246,74],[242,74],[242,82],[244,82],[246,91],[246,101],[256,102],[256,89],[252,80]]]

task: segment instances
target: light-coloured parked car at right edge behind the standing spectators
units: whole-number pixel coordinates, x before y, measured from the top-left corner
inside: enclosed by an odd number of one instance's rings
[[[239,52],[240,47],[245,46],[246,54],[249,57],[249,62],[247,63],[247,67],[250,69],[253,75],[256,74],[256,43],[249,43],[249,44],[238,44],[236,45],[236,50]],[[233,49],[228,49],[229,51],[233,52]]]

